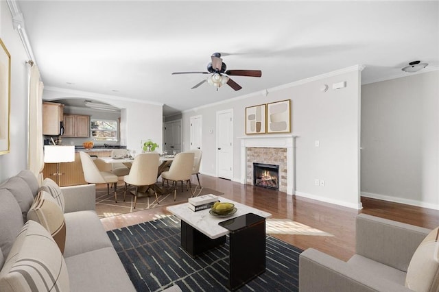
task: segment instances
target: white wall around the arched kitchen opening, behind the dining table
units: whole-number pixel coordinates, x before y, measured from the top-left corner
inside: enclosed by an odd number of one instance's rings
[[[141,141],[151,139],[162,147],[163,105],[134,101],[124,97],[98,95],[64,88],[45,88],[43,99],[89,98],[121,108],[121,145],[141,153]]]

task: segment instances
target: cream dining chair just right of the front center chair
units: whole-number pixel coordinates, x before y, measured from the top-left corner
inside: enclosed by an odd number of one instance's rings
[[[174,186],[174,201],[177,197],[177,183],[187,182],[189,188],[191,189],[191,195],[193,197],[192,185],[191,185],[191,175],[193,167],[193,158],[195,154],[191,152],[181,152],[176,154],[174,160],[169,167],[169,171],[163,171],[162,173],[162,186],[164,180],[171,180]]]

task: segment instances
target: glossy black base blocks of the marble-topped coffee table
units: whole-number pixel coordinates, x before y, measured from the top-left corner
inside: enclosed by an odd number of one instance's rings
[[[244,224],[230,230],[228,287],[236,290],[265,271],[265,218],[243,215]],[[239,222],[239,217],[237,217]],[[251,222],[250,224],[248,224]],[[190,256],[226,243],[226,236],[211,239],[185,221],[181,221],[181,246]]]

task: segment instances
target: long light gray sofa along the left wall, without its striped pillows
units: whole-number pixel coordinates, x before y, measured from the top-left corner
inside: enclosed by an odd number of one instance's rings
[[[23,226],[27,221],[27,211],[38,189],[38,181],[30,171],[21,171],[0,185],[0,267],[2,267],[0,277],[8,273],[4,271],[3,265],[16,241],[17,234],[20,231],[23,232]],[[95,185],[68,186],[61,190],[65,220],[63,258],[64,267],[67,268],[67,279],[64,281],[68,282],[69,290],[135,291],[96,215]],[[47,241],[43,245],[51,245],[51,242]],[[45,247],[47,246],[41,248],[44,250]],[[60,253],[56,247],[56,245],[51,246],[51,254]],[[25,245],[23,245],[24,248]],[[14,252],[20,253],[21,251],[14,250]],[[38,273],[43,272],[38,271]],[[35,285],[38,284],[34,280],[32,282]],[[12,289],[8,281],[3,281],[1,284],[4,286],[0,286],[0,291]]]

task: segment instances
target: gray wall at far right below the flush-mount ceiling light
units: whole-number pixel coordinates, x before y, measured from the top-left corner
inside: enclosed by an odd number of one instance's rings
[[[361,87],[361,195],[439,209],[439,71]]]

